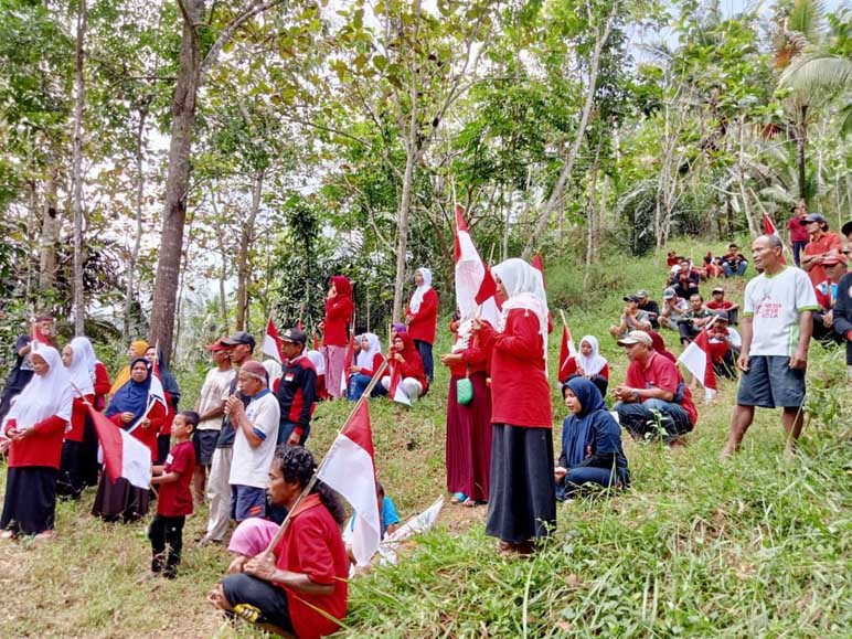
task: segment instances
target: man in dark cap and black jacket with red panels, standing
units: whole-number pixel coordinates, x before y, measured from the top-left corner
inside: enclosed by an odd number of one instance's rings
[[[280,426],[278,444],[305,446],[310,435],[310,417],[317,402],[317,369],[305,354],[308,337],[299,329],[281,333],[281,377],[275,396],[278,398]],[[340,380],[330,380],[340,384]]]

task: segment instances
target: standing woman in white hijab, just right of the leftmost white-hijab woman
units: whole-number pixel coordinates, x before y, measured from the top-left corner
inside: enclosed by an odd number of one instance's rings
[[[60,497],[77,499],[87,484],[97,484],[97,435],[88,418],[87,404],[95,402],[95,364],[97,358],[92,342],[78,337],[62,349],[62,362],[68,371],[74,391],[71,428],[62,444],[62,462],[56,492]],[[87,481],[87,478],[94,478]]]

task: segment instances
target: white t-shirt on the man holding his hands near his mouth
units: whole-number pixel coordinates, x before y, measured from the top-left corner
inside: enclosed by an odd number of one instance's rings
[[[264,388],[252,398],[245,414],[254,427],[255,434],[263,438],[263,443],[257,448],[252,448],[243,429],[236,428],[228,483],[231,486],[266,488],[269,466],[275,457],[275,446],[278,439],[278,422],[281,414],[278,398],[267,388]]]

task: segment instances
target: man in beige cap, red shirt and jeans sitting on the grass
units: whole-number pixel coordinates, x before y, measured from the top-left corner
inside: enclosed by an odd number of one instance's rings
[[[662,436],[667,444],[677,443],[699,419],[678,365],[653,350],[645,331],[630,331],[618,345],[630,360],[625,383],[615,390],[619,424],[637,440]]]

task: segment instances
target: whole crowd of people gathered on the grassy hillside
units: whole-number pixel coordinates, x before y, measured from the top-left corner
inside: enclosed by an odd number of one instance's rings
[[[619,323],[609,330],[628,362],[624,381],[611,382],[606,349],[592,334],[558,368],[555,383],[567,414],[558,457],[547,362],[552,316],[542,273],[516,258],[494,266],[499,321],[456,313],[448,327],[454,344],[438,356],[450,380],[445,462],[451,502],[487,505],[486,532],[499,540],[498,552],[529,554],[553,533],[557,501],[630,486],[622,429],[637,441],[683,444],[699,412],[665,347],[660,331],[667,330],[683,347],[705,333],[716,372],[739,377],[723,457],[741,446],[755,407],[782,409],[792,454],[811,337],[844,342],[852,377],[852,222],[843,227],[846,243],[838,243],[821,215],[802,214],[801,225],[810,238],[799,247],[805,270],[785,264],[777,235],[753,243],[758,275],[746,285],[742,318],[725,287],[714,286],[709,301],[700,290],[704,281],[746,275],[749,259],[733,244],[718,269],[711,268],[712,256],[696,268],[670,255],[662,305],[648,290],[625,296]],[[15,344],[0,403],[0,446],[8,451],[2,535],[52,537],[56,499],[78,499],[89,486],[97,487],[93,514],[110,522],[140,520],[153,499],[150,576],[174,577],[185,518],[206,502],[199,543],[230,539],[235,556],[211,603],[298,637],[333,632],[347,610],[352,554],[338,497],[321,481],[302,494],[317,467],[306,448],[311,418],[323,400],[355,402],[370,390],[372,397],[396,401],[402,393],[411,405],[430,391],[438,317],[432,279],[429,269],[417,269],[405,321],[391,327],[385,352],[375,333],[351,340],[352,284],[340,275],[331,278],[321,349],[308,350],[299,328],[280,334],[280,363],[258,361],[248,332],[215,340],[206,347],[212,368],[191,411],[179,408],[180,387],[157,348],[130,343],[128,363],[110,384],[87,338],[60,350],[53,318],[36,318]],[[150,400],[155,375],[164,403]],[[103,471],[93,412],[146,447],[149,488]],[[383,489],[376,499],[384,533],[398,515]],[[274,552],[266,552],[285,518]]]

